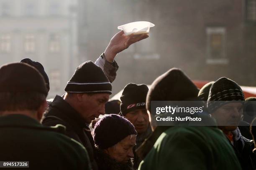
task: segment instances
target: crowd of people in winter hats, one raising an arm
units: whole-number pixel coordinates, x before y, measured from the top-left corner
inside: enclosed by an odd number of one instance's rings
[[[129,83],[120,101],[109,101],[115,57],[147,37],[118,32],[53,101],[46,100],[50,82],[39,62],[1,66],[0,161],[28,161],[35,170],[256,170],[256,107],[244,104],[256,97],[245,99],[229,78],[199,90],[172,68],[150,89]],[[153,125],[153,101],[198,101],[207,108],[199,116],[210,123]]]

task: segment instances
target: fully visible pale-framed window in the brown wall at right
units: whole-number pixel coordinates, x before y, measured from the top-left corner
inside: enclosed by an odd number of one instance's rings
[[[225,56],[225,34],[222,27],[207,28],[207,64],[227,64]]]

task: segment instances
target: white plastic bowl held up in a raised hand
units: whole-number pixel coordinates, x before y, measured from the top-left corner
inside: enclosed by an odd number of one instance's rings
[[[151,27],[155,25],[148,21],[137,21],[133,23],[128,23],[125,25],[118,26],[119,30],[123,30],[125,35],[137,35],[137,34],[148,34]]]

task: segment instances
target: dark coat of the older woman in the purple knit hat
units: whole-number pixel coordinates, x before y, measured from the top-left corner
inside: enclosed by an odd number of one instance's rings
[[[135,170],[132,159],[128,163],[118,163],[99,148],[96,149],[95,154],[99,170]]]

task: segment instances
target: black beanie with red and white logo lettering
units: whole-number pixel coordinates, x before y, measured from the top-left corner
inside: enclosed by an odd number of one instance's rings
[[[123,89],[120,97],[120,110],[125,116],[128,112],[136,109],[146,109],[146,97],[148,93],[148,86],[145,84],[136,85],[129,83]]]

